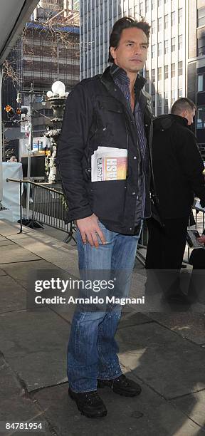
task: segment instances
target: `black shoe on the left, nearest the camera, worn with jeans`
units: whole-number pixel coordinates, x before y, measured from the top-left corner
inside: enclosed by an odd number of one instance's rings
[[[102,417],[107,415],[107,409],[99,397],[97,390],[75,393],[69,388],[68,395],[75,401],[82,415],[87,417]]]

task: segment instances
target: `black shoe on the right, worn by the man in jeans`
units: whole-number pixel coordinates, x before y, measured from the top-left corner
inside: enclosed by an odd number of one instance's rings
[[[135,397],[139,395],[142,390],[140,385],[137,385],[134,380],[125,377],[124,374],[113,380],[98,380],[98,388],[105,388],[105,386],[109,386],[113,392],[124,395],[124,397]]]

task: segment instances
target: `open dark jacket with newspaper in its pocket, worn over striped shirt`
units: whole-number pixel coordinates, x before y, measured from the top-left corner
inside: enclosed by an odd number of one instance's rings
[[[149,95],[142,91],[144,78],[137,78],[139,100],[144,114],[149,145],[152,143],[152,109]],[[127,180],[91,182],[91,155],[98,146],[127,148]],[[127,101],[115,85],[108,67],[102,76],[81,81],[68,95],[57,162],[68,202],[67,222],[93,212],[113,232],[133,234],[138,192],[138,173],[142,165],[135,118]],[[149,206],[149,175],[147,204]]]

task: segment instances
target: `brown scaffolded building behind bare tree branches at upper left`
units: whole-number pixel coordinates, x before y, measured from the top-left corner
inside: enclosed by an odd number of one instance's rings
[[[48,2],[41,1],[43,6]],[[79,12],[61,8],[53,1],[35,9],[23,31],[23,83],[36,90],[49,90],[54,81],[63,81],[69,91],[79,81]],[[68,4],[67,1],[64,1]]]

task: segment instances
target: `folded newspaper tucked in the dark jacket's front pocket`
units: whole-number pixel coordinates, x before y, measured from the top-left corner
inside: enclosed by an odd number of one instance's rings
[[[91,157],[91,181],[125,180],[127,176],[127,149],[98,147]]]

